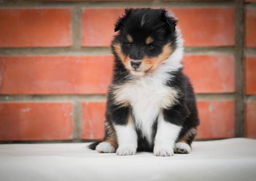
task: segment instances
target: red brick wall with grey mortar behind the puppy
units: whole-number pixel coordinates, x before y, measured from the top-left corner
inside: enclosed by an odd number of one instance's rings
[[[180,19],[197,139],[256,138],[256,3],[1,1],[0,141],[103,138],[113,24],[126,7]]]

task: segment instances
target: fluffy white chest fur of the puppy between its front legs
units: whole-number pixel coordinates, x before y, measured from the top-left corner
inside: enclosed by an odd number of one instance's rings
[[[172,106],[177,91],[151,77],[126,83],[117,87],[115,99],[119,104],[132,106],[135,125],[143,136],[152,143],[152,126],[162,108]]]

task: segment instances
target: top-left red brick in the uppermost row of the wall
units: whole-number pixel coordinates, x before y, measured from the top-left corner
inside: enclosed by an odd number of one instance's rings
[[[0,47],[71,45],[70,9],[0,9]]]

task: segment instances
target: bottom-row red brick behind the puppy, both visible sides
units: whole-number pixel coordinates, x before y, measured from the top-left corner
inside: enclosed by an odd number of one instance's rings
[[[234,136],[234,101],[199,100],[200,126],[197,139],[230,138]],[[82,138],[102,139],[105,102],[83,103]]]

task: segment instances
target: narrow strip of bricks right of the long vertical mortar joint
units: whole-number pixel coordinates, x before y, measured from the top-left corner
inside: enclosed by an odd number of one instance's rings
[[[249,1],[247,2],[256,2]],[[256,3],[245,6],[245,134],[256,138]]]

